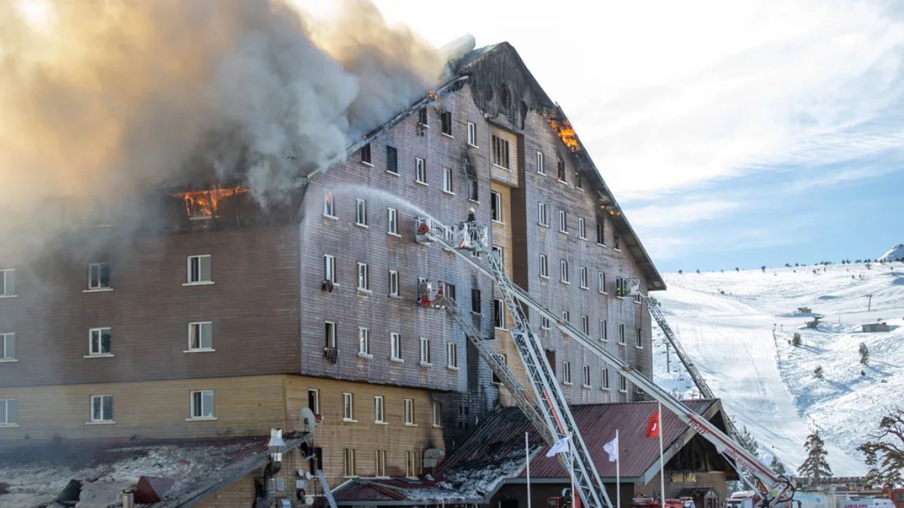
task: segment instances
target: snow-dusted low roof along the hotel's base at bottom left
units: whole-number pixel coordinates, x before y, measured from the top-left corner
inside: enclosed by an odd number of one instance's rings
[[[283,438],[289,451],[310,435],[297,433]],[[81,484],[78,499],[91,506],[107,506],[118,502],[122,489],[133,488],[140,477],[154,476],[173,482],[160,493],[161,502],[145,506],[188,506],[264,466],[268,441],[264,436],[67,439],[5,445],[0,452],[0,478],[6,492],[0,494],[0,505],[52,503],[76,480]],[[159,480],[153,483],[170,484]]]

